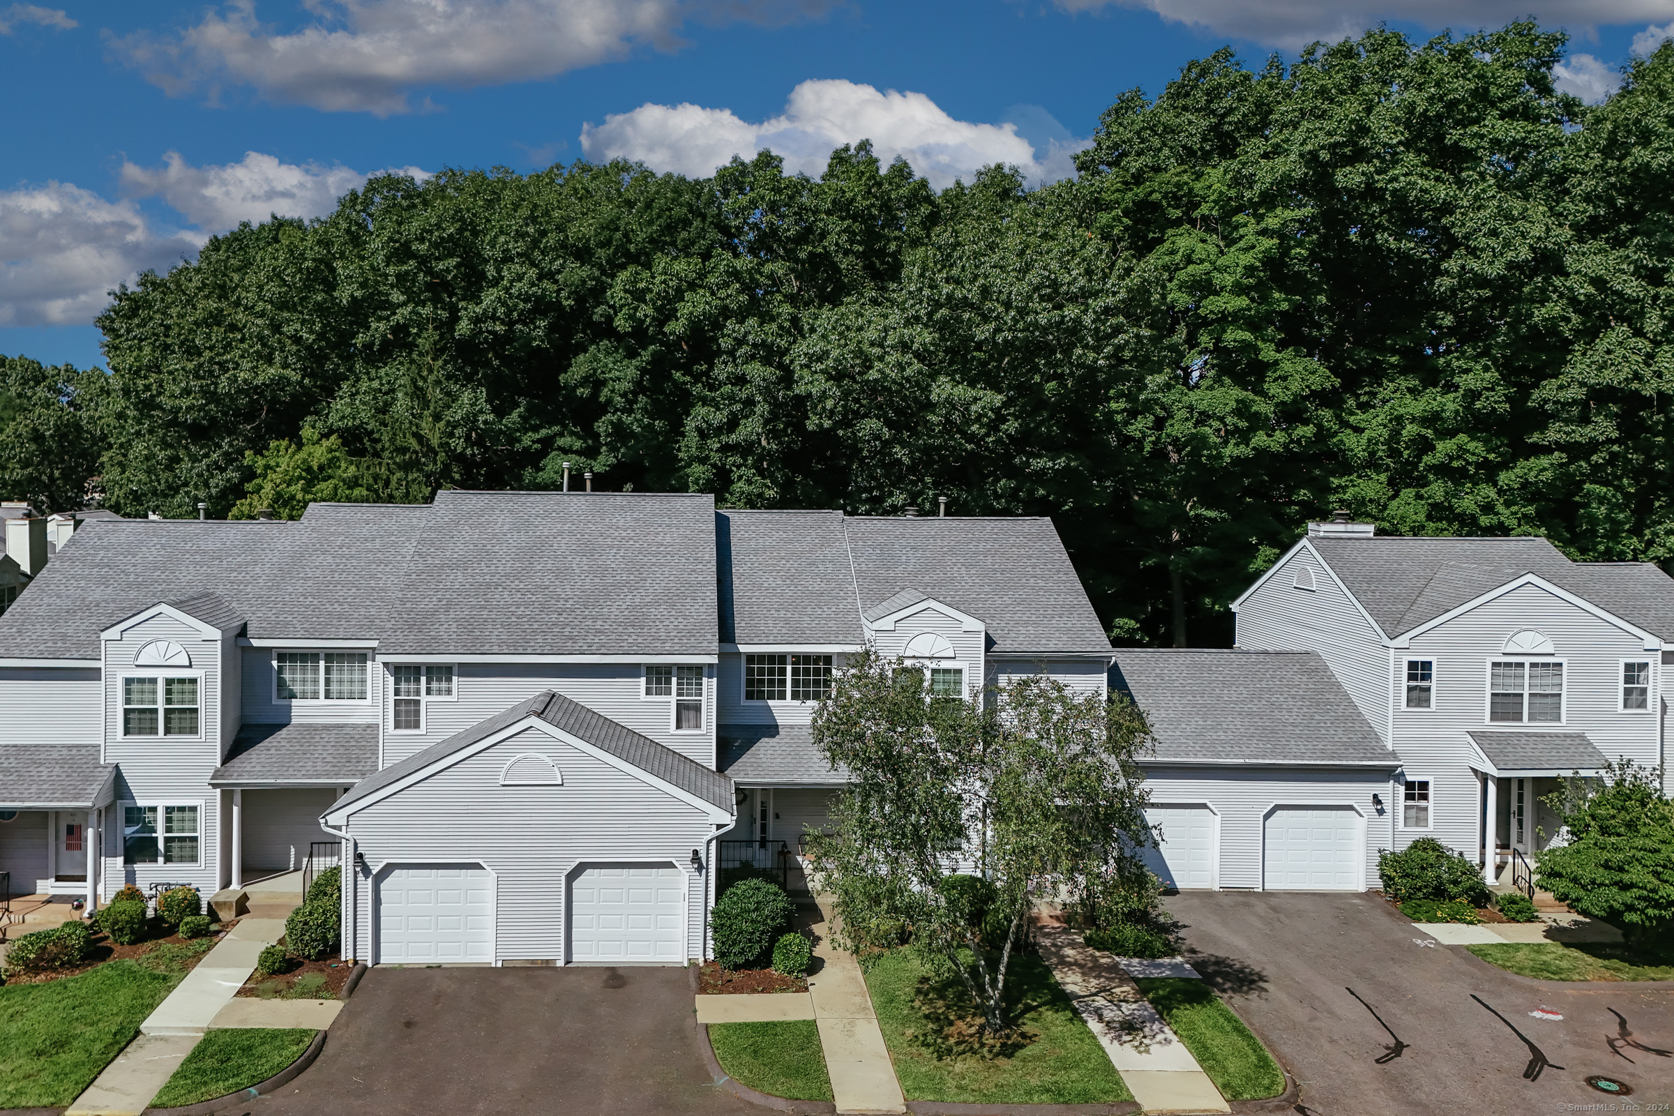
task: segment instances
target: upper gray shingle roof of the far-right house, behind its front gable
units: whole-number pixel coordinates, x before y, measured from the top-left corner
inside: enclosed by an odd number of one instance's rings
[[[1523,574],[1674,639],[1674,579],[1651,562],[1570,562],[1545,539],[1311,537],[1386,636],[1456,609]]]

